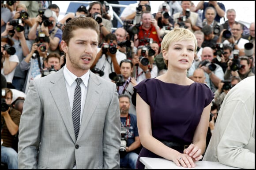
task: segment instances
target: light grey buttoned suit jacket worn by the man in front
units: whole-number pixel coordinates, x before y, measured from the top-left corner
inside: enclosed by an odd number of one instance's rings
[[[63,68],[30,82],[19,126],[19,169],[118,169],[116,84],[90,72],[77,141]]]

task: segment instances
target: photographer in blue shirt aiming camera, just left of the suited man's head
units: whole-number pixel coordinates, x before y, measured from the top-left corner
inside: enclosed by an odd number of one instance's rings
[[[50,9],[39,9],[38,13],[36,22],[28,34],[29,40],[35,40],[40,33],[44,33],[50,40],[48,52],[56,52],[60,54],[61,48],[59,45],[62,30],[56,27],[56,22],[58,21],[56,13]]]

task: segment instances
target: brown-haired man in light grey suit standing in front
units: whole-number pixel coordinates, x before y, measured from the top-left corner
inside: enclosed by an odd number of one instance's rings
[[[119,169],[117,87],[90,71],[98,35],[93,18],[70,20],[61,40],[66,65],[30,82],[19,126],[19,169]],[[83,82],[75,136],[72,107],[77,78]]]

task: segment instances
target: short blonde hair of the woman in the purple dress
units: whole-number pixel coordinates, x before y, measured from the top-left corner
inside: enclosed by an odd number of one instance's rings
[[[166,50],[168,51],[170,43],[178,42],[178,41],[186,41],[186,40],[193,40],[195,43],[194,52],[196,54],[197,48],[197,40],[194,33],[192,33],[189,29],[175,27],[169,33],[167,33],[161,43],[161,51]],[[166,66],[168,68],[168,62],[164,59]]]

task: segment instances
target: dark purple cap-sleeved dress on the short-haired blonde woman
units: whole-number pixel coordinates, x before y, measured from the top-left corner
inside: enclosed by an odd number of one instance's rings
[[[134,92],[134,105],[136,93],[150,105],[153,137],[176,143],[192,143],[203,109],[214,98],[214,93],[204,83],[182,86],[158,79],[141,81],[134,87]],[[140,157],[162,158],[143,147],[137,159],[138,169],[144,169]]]

